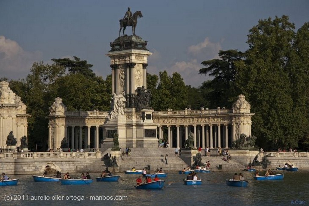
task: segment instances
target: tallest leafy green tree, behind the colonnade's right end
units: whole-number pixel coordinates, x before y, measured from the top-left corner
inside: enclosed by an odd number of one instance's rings
[[[300,95],[296,94],[297,87],[303,84],[290,65],[296,55],[295,27],[288,20],[287,16],[269,18],[252,27],[245,63],[237,66],[236,84],[255,113],[252,133],[258,137],[257,143],[267,149],[297,147],[304,134],[295,102]]]

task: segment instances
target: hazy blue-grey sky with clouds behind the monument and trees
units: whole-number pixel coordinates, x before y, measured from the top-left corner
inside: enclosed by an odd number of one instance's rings
[[[152,53],[147,72],[178,72],[194,87],[211,79],[198,74],[202,61],[218,58],[219,50],[248,49],[259,19],[288,15],[296,30],[309,21],[307,0],[0,0],[0,78],[25,79],[35,61],[76,56],[105,79],[105,54],[128,7],[142,11],[135,34]]]

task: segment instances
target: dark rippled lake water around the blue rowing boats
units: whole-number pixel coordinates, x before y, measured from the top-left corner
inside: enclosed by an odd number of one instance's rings
[[[309,171],[283,171],[284,179],[256,181],[253,173],[242,172],[248,187],[229,187],[225,179],[233,171],[211,171],[198,174],[202,185],[187,186],[186,175],[169,173],[162,190],[137,190],[138,175],[120,173],[118,182],[96,182],[91,185],[61,185],[59,182],[34,182],[31,175],[10,175],[19,178],[17,186],[0,187],[0,205],[308,205]],[[239,171],[237,171],[239,173]],[[275,171],[275,174],[279,174]],[[262,174],[262,172],[260,173]],[[71,174],[71,177],[74,174]],[[78,174],[79,176],[79,174]],[[91,174],[92,178],[99,174]],[[94,179],[95,180],[95,179]],[[175,182],[176,181],[176,182]],[[168,183],[171,183],[168,185]],[[12,195],[12,200],[10,200]],[[18,196],[20,195],[20,196]],[[103,196],[102,196],[103,195]],[[90,196],[105,200],[90,200]],[[120,198],[122,200],[115,200]],[[8,198],[5,201],[5,197]],[[42,198],[42,200],[31,200]],[[113,198],[113,200],[107,200]],[[14,200],[15,199],[15,200]]]

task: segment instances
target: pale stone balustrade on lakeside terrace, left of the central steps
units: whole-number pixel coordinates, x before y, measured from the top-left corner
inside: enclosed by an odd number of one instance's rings
[[[13,158],[101,158],[100,152],[23,152],[0,153],[0,159]]]

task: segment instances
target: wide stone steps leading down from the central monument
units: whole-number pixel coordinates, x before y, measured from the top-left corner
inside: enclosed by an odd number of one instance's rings
[[[133,167],[137,170],[142,170],[147,167],[148,170],[154,172],[156,168],[161,168],[163,171],[178,171],[187,164],[175,155],[175,148],[130,148],[131,154],[129,157],[123,157],[119,160],[120,171],[131,170]],[[102,150],[102,156],[110,153],[111,149]],[[165,155],[167,154],[167,165],[165,164]],[[179,154],[178,154],[179,155]]]

